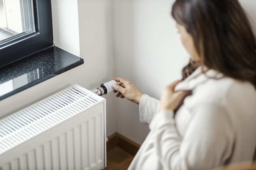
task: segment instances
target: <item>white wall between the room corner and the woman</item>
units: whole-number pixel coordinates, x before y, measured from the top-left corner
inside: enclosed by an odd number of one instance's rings
[[[173,2],[114,0],[116,75],[155,98],[165,85],[181,78],[189,57],[171,18]],[[141,144],[149,130],[139,122],[139,107],[126,99],[116,103],[118,132]]]

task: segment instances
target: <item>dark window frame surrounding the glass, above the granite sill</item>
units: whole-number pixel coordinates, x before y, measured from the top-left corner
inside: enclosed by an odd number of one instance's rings
[[[0,68],[53,46],[51,0],[33,0],[35,32],[0,47]]]

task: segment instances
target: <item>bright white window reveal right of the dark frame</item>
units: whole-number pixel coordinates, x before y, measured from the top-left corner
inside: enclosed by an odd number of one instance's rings
[[[52,0],[53,39],[56,46],[80,56],[77,0]]]

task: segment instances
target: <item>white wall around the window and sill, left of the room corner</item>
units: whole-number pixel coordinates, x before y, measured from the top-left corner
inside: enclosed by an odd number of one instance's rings
[[[80,54],[85,63],[0,101],[0,117],[72,84],[92,89],[114,77],[111,0],[52,0],[52,12],[56,46]],[[72,18],[65,18],[67,13]],[[107,135],[110,135],[117,131],[117,118],[112,107],[114,96],[106,97]]]

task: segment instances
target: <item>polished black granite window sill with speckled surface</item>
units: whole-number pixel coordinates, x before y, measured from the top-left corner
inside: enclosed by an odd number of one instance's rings
[[[0,101],[83,64],[83,59],[50,47],[0,68]]]

